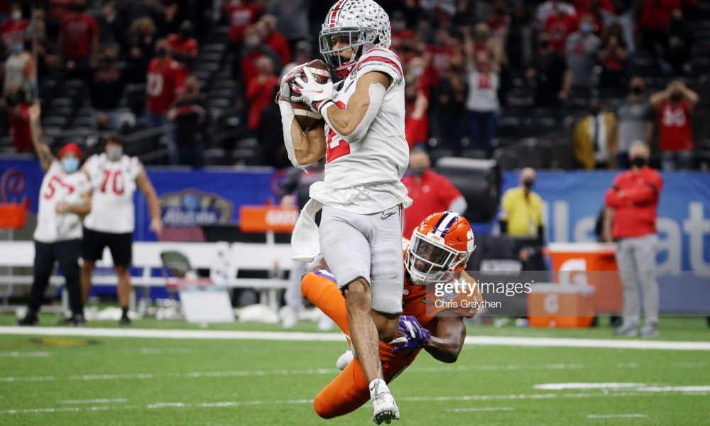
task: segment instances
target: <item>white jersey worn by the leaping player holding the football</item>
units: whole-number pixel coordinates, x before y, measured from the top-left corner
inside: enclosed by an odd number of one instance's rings
[[[409,145],[404,129],[405,82],[397,55],[388,49],[368,50],[350,75],[336,86],[333,100],[345,109],[357,80],[371,71],[392,78],[380,110],[363,138],[352,143],[344,141],[325,124],[325,179],[310,187],[311,198],[359,214],[382,212],[398,204],[408,207],[412,203],[401,181],[409,163]]]

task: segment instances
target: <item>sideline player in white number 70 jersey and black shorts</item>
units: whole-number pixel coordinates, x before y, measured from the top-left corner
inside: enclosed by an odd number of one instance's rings
[[[89,297],[96,261],[103,257],[104,248],[108,246],[119,280],[119,304],[123,310],[120,324],[128,325],[131,323],[128,316],[131,298],[129,268],[136,222],[133,193],[138,187],[146,196],[151,214],[150,228],[156,234],[163,229],[158,195],[141,161],[124,154],[123,138],[117,134],[104,137],[104,152],[89,157],[84,170],[94,187],[94,208],[84,220],[81,273],[84,302]]]

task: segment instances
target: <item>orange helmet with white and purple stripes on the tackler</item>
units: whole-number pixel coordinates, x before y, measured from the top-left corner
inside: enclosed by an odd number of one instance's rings
[[[464,271],[474,249],[474,231],[465,217],[430,214],[412,233],[405,267],[413,284],[447,283],[456,271]]]

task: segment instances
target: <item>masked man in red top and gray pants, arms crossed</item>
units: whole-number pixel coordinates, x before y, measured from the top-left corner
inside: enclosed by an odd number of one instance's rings
[[[619,173],[606,192],[613,210],[612,231],[616,263],[623,284],[623,325],[616,334],[627,337],[658,336],[658,283],[656,218],[663,187],[660,173],[648,167],[648,147],[637,142],[629,150],[631,170]],[[645,323],[640,325],[639,288],[643,293]]]

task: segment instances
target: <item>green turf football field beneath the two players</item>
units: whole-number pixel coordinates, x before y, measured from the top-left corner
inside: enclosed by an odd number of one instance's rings
[[[0,315],[0,325],[12,320]],[[55,317],[42,320],[50,325]],[[663,340],[710,340],[704,319],[664,320]],[[158,326],[192,328],[181,321],[151,320],[133,327]],[[315,326],[304,323],[299,330],[315,331]],[[608,338],[611,331],[471,326],[469,334]],[[0,334],[0,424],[374,424],[368,406],[329,421],[312,410],[312,398],[337,374],[335,360],[345,347],[339,342]],[[626,384],[540,388],[546,383]],[[682,388],[687,386],[695,388]],[[466,346],[456,364],[422,354],[391,390],[400,406],[400,425],[701,425],[710,422],[710,351]]]

